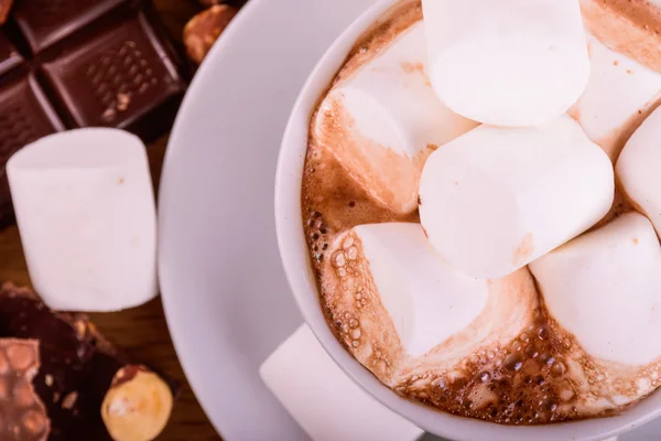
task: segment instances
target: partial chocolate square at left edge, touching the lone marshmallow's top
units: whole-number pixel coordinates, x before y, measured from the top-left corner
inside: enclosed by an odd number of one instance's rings
[[[32,74],[0,86],[0,226],[11,213],[7,161],[25,144],[61,130],[62,121]]]

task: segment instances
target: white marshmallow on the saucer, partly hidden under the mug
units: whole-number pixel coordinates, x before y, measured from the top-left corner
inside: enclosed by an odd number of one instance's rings
[[[305,324],[259,373],[314,441],[413,441],[423,434],[351,381]]]

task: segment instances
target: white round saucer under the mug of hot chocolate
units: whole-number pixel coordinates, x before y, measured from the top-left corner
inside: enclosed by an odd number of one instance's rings
[[[306,439],[258,376],[302,322],[275,241],[275,161],[307,74],[373,2],[250,0],[172,132],[160,194],[163,302],[188,380],[228,441]],[[661,422],[621,440],[657,433]]]

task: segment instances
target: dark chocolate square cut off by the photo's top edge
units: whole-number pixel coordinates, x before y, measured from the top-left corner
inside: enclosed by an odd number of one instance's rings
[[[126,0],[19,0],[13,19],[33,53],[80,30]]]

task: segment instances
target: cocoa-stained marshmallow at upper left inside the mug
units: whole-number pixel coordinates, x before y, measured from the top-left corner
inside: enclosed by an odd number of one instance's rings
[[[377,202],[415,209],[420,173],[434,148],[473,129],[443,106],[426,76],[424,26],[414,24],[328,93],[314,121],[333,151]]]

